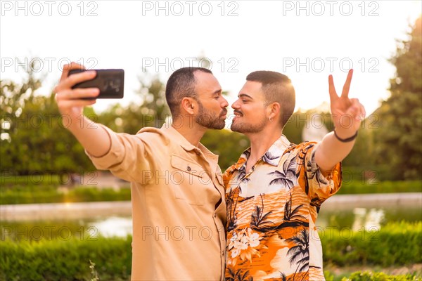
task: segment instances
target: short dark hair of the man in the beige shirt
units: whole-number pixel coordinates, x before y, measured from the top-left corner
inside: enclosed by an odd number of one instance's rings
[[[165,99],[173,116],[180,114],[180,103],[183,98],[197,98],[195,91],[197,71],[212,74],[211,70],[203,67],[182,67],[170,75],[165,86]]]

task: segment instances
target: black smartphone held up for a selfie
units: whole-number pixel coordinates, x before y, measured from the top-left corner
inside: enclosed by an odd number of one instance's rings
[[[69,75],[87,70],[70,70]],[[98,88],[100,94],[96,98],[123,98],[124,70],[95,70],[96,77],[72,86],[77,88]],[[84,98],[94,99],[94,98]]]

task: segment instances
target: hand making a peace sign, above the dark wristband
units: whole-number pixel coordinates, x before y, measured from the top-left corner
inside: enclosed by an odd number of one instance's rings
[[[340,138],[353,136],[365,118],[365,108],[357,98],[349,98],[350,82],[352,81],[353,70],[349,70],[343,91],[339,97],[334,88],[333,75],[328,77],[330,92],[331,114],[335,133]]]

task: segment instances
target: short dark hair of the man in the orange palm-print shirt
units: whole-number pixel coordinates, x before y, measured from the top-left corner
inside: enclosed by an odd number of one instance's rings
[[[246,77],[247,81],[256,81],[262,84],[262,92],[265,96],[265,105],[280,103],[281,126],[284,127],[295,110],[296,96],[292,81],[279,72],[255,71]]]

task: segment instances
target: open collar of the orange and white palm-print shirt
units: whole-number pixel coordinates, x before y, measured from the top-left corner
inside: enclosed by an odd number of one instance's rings
[[[280,138],[275,141],[271,147],[264,153],[262,156],[262,161],[270,164],[271,166],[279,166],[279,162],[281,160],[281,156],[283,156],[283,152],[290,146],[290,141],[286,138],[286,136],[281,135]],[[234,169],[240,169],[250,156],[250,148],[245,150],[241,157],[238,159],[238,162],[234,164]]]

